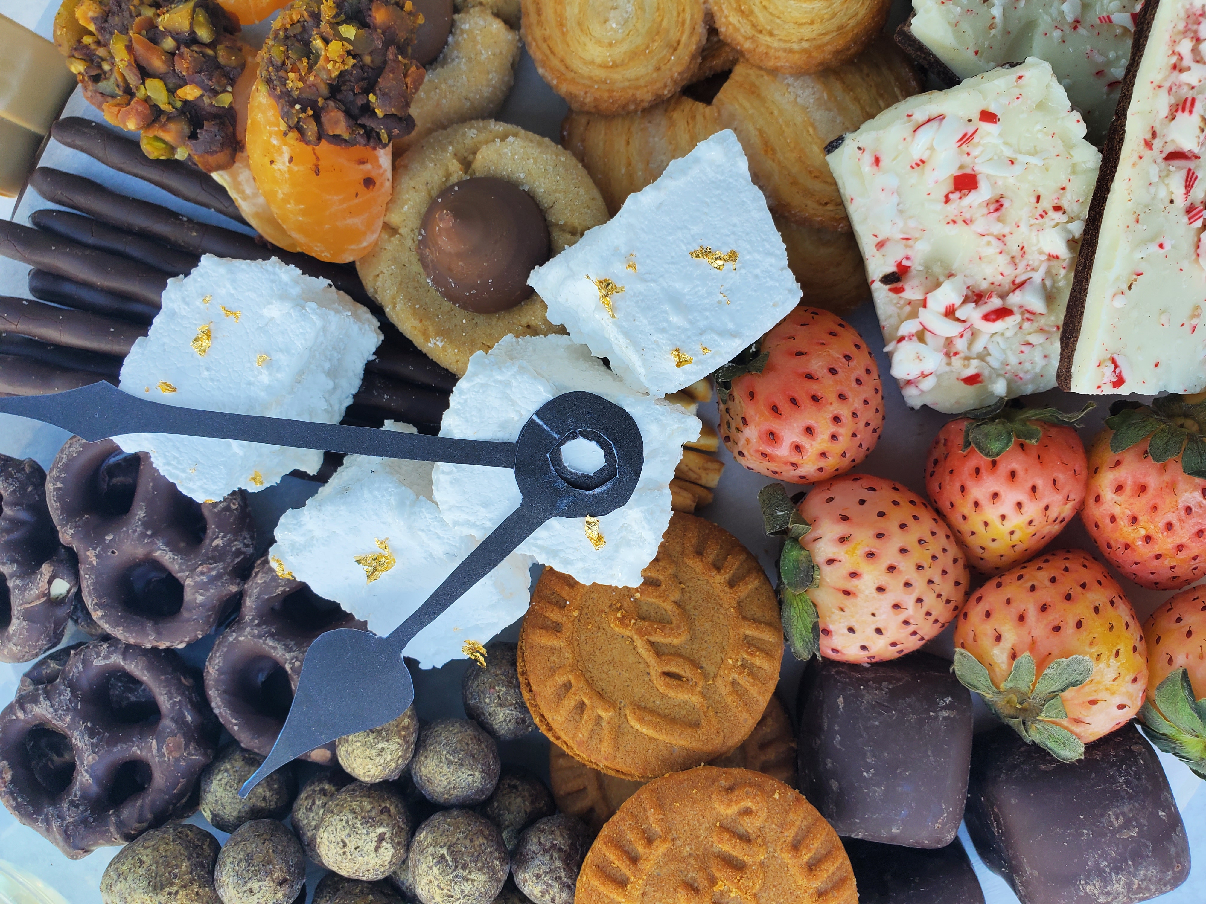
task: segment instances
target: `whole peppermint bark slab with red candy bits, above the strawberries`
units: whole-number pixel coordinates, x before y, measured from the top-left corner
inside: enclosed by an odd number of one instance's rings
[[[830,153],[911,406],[1055,385],[1100,159],[1036,59],[901,101]]]

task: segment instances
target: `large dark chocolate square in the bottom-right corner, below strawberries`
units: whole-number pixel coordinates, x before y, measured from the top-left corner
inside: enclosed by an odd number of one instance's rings
[[[1135,724],[1060,763],[1012,728],[976,738],[967,830],[1021,904],[1132,904],[1189,877],[1189,841]]]

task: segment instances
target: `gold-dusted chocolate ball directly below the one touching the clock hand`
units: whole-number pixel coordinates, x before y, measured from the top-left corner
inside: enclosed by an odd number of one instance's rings
[[[387,785],[353,782],[327,804],[315,846],[327,869],[375,882],[406,858],[410,814]]]

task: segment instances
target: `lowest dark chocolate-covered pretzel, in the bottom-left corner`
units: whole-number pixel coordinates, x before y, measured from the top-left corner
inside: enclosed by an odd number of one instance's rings
[[[170,650],[95,640],[65,663],[60,652],[0,711],[0,802],[78,859],[178,815],[218,724]]]

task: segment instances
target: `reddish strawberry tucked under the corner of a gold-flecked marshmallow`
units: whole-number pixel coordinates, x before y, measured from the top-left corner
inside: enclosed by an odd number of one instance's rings
[[[879,368],[862,336],[803,305],[718,370],[716,389],[733,458],[789,483],[851,470],[884,424]]]

